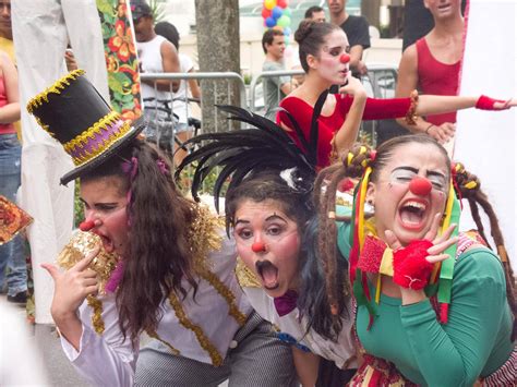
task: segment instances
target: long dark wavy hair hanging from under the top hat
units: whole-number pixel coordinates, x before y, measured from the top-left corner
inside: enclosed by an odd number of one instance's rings
[[[171,291],[187,294],[182,279],[194,288],[194,294],[197,289],[188,241],[195,204],[179,193],[170,168],[155,147],[133,140],[81,178],[87,181],[118,177],[124,182],[125,192],[131,192],[127,207],[131,241],[122,257],[124,271],[117,291],[120,327],[131,339],[142,330],[156,329],[161,317],[159,305]]]

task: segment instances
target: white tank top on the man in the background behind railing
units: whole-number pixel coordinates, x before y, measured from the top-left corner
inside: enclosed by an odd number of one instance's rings
[[[141,70],[144,73],[163,73],[164,64],[161,61],[160,47],[161,44],[166,40],[165,37],[156,35],[149,41],[139,41],[136,43],[136,49],[139,50],[139,60]],[[142,98],[155,98],[159,100],[170,100],[169,92],[155,90],[154,86],[147,85],[145,83],[141,84],[142,87]],[[152,106],[154,102],[146,102],[144,100],[144,107]]]

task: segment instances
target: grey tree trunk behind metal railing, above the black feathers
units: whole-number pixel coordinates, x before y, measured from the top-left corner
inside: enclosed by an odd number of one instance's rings
[[[195,0],[195,23],[200,71],[240,74],[239,1]],[[227,131],[226,114],[214,105],[239,105],[237,82],[202,81],[201,89],[203,132]]]

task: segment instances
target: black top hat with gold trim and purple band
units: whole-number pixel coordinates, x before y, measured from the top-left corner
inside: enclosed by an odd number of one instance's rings
[[[143,119],[132,124],[111,110],[84,70],[72,71],[31,99],[27,111],[73,159],[76,168],[61,184],[105,162],[145,126]]]

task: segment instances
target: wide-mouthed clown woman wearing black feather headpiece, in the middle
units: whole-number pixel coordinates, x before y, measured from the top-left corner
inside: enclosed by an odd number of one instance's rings
[[[303,149],[272,121],[237,107],[220,107],[230,119],[252,128],[192,138],[188,146],[202,145],[177,171],[178,177],[188,165],[195,165],[192,194],[196,197],[203,180],[219,167],[214,185],[216,208],[229,179],[226,223],[241,259],[239,282],[253,307],[278,328],[281,340],[292,346],[303,386],[315,385],[318,368],[317,385],[328,386],[322,376],[327,377],[332,370],[342,386],[354,372],[350,368],[357,367],[350,298],[344,295],[339,318],[332,318],[323,269],[313,254],[315,246],[304,243],[304,233],[317,227],[311,219],[315,215],[312,194],[317,116],[325,98],[326,93],[316,102],[311,135],[302,140]],[[300,131],[294,119],[292,124]],[[342,261],[344,270],[345,266]],[[341,282],[336,286],[344,288]],[[311,309],[305,307],[308,304]],[[320,362],[320,356],[330,362]],[[318,364],[325,364],[325,371]]]

